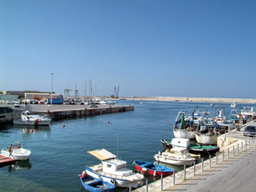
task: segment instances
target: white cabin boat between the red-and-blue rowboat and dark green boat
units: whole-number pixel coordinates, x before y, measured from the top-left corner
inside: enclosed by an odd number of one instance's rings
[[[159,152],[156,154],[154,159],[163,163],[176,165],[191,165],[195,161],[195,158],[190,156],[187,148],[185,147],[173,147],[172,149],[166,149],[165,152]]]

